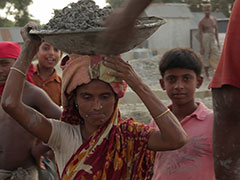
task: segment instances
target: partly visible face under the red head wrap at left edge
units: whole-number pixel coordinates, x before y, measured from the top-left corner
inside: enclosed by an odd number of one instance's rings
[[[0,84],[4,84],[7,80],[10,67],[15,63],[12,58],[0,58]]]

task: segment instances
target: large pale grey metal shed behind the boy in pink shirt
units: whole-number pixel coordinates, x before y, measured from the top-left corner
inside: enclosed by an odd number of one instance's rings
[[[148,48],[164,52],[180,46],[190,47],[189,31],[193,15],[187,4],[152,3],[145,13],[147,16],[157,16],[167,20],[167,23],[148,39]]]

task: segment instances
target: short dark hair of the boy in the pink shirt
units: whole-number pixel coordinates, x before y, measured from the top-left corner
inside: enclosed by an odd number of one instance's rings
[[[164,76],[166,70],[183,68],[193,70],[197,76],[202,72],[201,56],[190,48],[174,48],[167,51],[159,62],[159,71]]]

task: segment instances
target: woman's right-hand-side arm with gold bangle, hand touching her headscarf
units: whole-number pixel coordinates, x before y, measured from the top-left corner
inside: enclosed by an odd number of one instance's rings
[[[131,65],[118,57],[107,57],[104,63],[117,71],[110,75],[125,80],[140,97],[158,125],[160,131],[152,131],[148,140],[148,148],[162,151],[182,147],[187,142],[187,135],[178,119],[142,81]]]

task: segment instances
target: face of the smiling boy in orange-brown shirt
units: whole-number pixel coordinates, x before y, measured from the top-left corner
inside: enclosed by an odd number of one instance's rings
[[[62,56],[62,52],[47,42],[43,42],[37,53],[40,66],[54,68]]]

